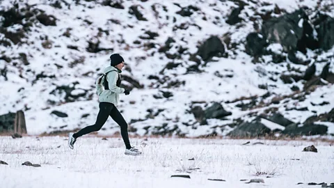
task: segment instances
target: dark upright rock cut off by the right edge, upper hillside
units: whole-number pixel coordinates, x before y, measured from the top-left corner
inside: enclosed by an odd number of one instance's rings
[[[331,49],[334,45],[334,18],[326,17],[317,26],[317,38],[319,39],[319,47],[324,50]]]

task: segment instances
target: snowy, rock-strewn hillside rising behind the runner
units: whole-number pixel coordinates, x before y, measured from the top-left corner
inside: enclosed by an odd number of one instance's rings
[[[131,134],[334,134],[331,0],[5,0],[0,26],[0,132],[92,125],[119,53]]]

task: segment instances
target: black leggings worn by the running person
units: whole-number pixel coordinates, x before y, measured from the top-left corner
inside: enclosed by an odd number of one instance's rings
[[[127,134],[127,122],[124,120],[122,114],[120,114],[120,111],[118,111],[115,105],[109,102],[100,102],[99,107],[100,111],[97,114],[96,123],[79,130],[79,132],[73,134],[73,137],[77,139],[84,134],[100,130],[104,123],[106,123],[108,117],[111,116],[111,118],[120,125],[120,134],[122,135],[125,147],[127,147],[127,149],[131,148],[129,135]]]

